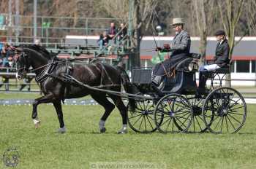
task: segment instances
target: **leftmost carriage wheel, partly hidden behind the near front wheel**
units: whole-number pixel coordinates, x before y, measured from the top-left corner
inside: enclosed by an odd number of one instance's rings
[[[157,130],[154,124],[154,101],[139,100],[135,103],[135,110],[128,111],[128,124],[135,132],[151,133]]]

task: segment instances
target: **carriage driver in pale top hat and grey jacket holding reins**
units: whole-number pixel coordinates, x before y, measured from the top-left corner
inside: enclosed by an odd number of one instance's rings
[[[167,60],[157,63],[153,68],[152,84],[159,90],[164,87],[162,77],[170,73],[170,69],[174,68],[182,60],[188,58],[190,50],[190,36],[187,31],[184,31],[184,22],[181,18],[173,18],[173,30],[176,32],[176,36],[173,38],[171,44],[165,44],[165,50],[171,51],[170,58]],[[158,47],[157,50],[162,50]]]

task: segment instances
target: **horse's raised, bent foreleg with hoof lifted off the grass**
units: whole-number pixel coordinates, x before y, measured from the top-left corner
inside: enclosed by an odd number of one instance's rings
[[[33,122],[34,122],[34,125],[35,127],[39,127],[39,119],[37,117],[37,106],[40,104],[40,103],[50,103],[52,102],[54,99],[54,95],[53,94],[48,94],[48,95],[44,95],[40,98],[36,98],[33,102],[33,111],[32,111],[32,119],[33,119]]]

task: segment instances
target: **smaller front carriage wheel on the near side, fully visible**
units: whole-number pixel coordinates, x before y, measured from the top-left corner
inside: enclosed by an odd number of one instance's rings
[[[185,133],[192,118],[192,106],[187,98],[178,94],[165,95],[154,110],[154,121],[161,133]]]

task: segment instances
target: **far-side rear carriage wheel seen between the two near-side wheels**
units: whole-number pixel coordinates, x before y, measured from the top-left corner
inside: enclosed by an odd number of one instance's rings
[[[203,133],[206,132],[207,127],[206,123],[203,120],[203,102],[205,101],[206,98],[198,98],[192,95],[188,95],[186,97],[189,100],[189,103],[192,106],[192,111],[193,111],[193,122],[191,127],[189,127],[189,132],[192,133]],[[214,112],[212,112],[214,113]],[[213,118],[211,119],[211,121]]]

